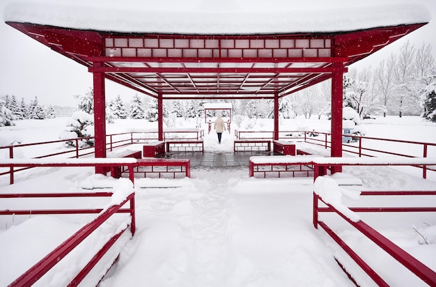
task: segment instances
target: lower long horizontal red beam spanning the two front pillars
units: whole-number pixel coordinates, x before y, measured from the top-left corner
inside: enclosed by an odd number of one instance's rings
[[[152,67],[89,67],[89,72],[150,72],[150,73],[330,73],[347,72],[348,68],[152,68]]]

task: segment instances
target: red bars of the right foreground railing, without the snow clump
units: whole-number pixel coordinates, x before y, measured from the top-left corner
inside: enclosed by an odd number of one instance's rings
[[[426,165],[426,164],[436,164],[436,158],[433,159],[405,159],[405,161],[400,162],[398,159],[390,160],[380,160],[380,159],[353,159],[345,160],[341,158],[330,158],[330,159],[314,159],[313,160],[315,175],[314,178],[322,176],[326,173],[327,167],[331,166],[406,166],[410,164],[414,165]],[[362,196],[436,196],[436,191],[371,191],[371,192],[361,192]],[[323,203],[324,207],[320,207],[319,203]],[[359,208],[349,208],[352,212],[436,212],[436,206],[430,207],[359,207]],[[387,252],[392,258],[401,263],[403,266],[414,273],[422,281],[430,286],[436,286],[436,272],[431,270],[428,266],[424,265],[418,259],[414,258],[406,251],[398,247],[394,242],[385,238],[383,235],[375,231],[375,229],[368,226],[365,222],[361,220],[352,220],[343,212],[338,211],[333,205],[324,201],[316,192],[313,193],[313,225],[315,228],[321,226],[327,234],[336,242],[342,249],[361,267],[366,274],[368,274],[371,279],[378,286],[389,286],[385,279],[382,279],[373,268],[366,263],[356,251],[354,251],[350,246],[348,246],[343,239],[340,238],[332,228],[330,228],[325,222],[318,219],[319,212],[334,212],[341,218],[345,219],[351,226],[355,227],[360,231],[366,238],[373,241],[377,246]]]

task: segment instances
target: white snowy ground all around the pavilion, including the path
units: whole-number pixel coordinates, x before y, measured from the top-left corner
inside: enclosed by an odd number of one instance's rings
[[[0,135],[23,142],[57,139],[63,120],[17,122],[17,126],[1,130]],[[436,125],[421,122],[416,117],[379,118],[366,123],[368,137],[429,142],[436,139]],[[132,124],[146,126],[141,121],[123,121],[109,125],[109,132],[123,131]],[[270,125],[257,124],[255,129],[268,130]],[[286,123],[286,127],[289,130],[298,127],[329,130],[329,123],[297,119]],[[233,150],[232,134],[225,133],[221,145],[215,138],[213,132],[208,135],[206,131],[206,150]],[[26,155],[22,153],[22,157]],[[344,169],[344,172],[361,178],[368,189],[434,190],[436,186],[434,176],[433,181],[422,180],[386,167]],[[93,176],[93,169],[87,168],[33,169],[20,176],[17,174],[16,180],[15,185],[9,186],[7,178],[0,178],[1,192],[71,192],[88,186],[90,181],[95,186],[107,183]],[[118,247],[122,252],[116,268],[100,286],[353,286],[333,256],[343,261],[361,286],[373,286],[325,233],[313,228],[310,181],[249,178],[245,169],[194,169],[192,178],[142,180],[141,186],[148,188],[136,189],[137,233],[124,247]],[[1,201],[0,210],[18,208],[22,202]],[[109,199],[86,202],[69,199],[56,203],[44,201],[38,207],[79,204],[86,208],[108,202]],[[419,200],[359,199],[344,200],[344,203],[436,206],[436,199],[426,196]],[[26,204],[37,203],[26,201]],[[91,217],[32,216],[26,221],[28,217],[0,217],[0,253],[5,255],[0,258],[0,286],[6,286],[22,274]],[[436,218],[433,214],[361,217],[436,270]],[[413,275],[404,272],[352,228],[332,216],[325,215],[322,219],[331,223],[391,286],[420,286]],[[423,238],[414,227],[421,235],[426,235],[429,245],[423,244]],[[101,233],[109,231],[111,228],[106,227]],[[97,245],[95,241],[91,244]],[[82,248],[88,251],[79,251],[79,255],[68,258],[68,263],[45,277],[40,286],[65,285],[68,271],[74,270],[85,254],[91,253],[89,243]]]

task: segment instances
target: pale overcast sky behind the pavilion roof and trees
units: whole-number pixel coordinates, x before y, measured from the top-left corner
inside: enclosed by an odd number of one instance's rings
[[[3,8],[6,3],[11,0],[0,0],[1,15],[3,15]],[[80,2],[80,0],[77,0]],[[92,0],[86,0],[92,2]],[[98,0],[94,0],[98,1]],[[134,1],[148,1],[148,0],[125,0],[123,3],[134,3]],[[276,9],[282,2],[292,3],[295,0],[223,0],[223,1],[236,1],[241,7],[254,7],[255,4],[263,6],[263,9]],[[82,0],[84,2],[84,0]],[[100,1],[99,1],[100,2]],[[101,0],[104,5],[111,5],[111,3],[118,2],[118,0]],[[192,0],[190,3],[200,3],[202,8],[205,5],[212,5],[212,9],[217,9],[216,3],[222,1],[205,0]],[[317,8],[335,8],[335,7],[350,7],[355,2],[352,0],[305,0],[295,1],[295,6],[298,8],[317,7]],[[366,59],[355,63],[352,67],[361,68],[368,65],[376,66],[378,63],[389,56],[392,52],[397,52],[398,49],[410,40],[416,46],[422,43],[429,43],[433,46],[433,54],[436,58],[436,0],[367,0],[366,4],[374,2],[380,3],[419,3],[426,6],[432,14],[430,24],[422,27],[421,29],[412,32],[411,34],[403,37],[402,39],[394,42],[393,44],[385,47],[384,49],[368,56]],[[150,1],[153,6],[166,6],[172,8],[187,8],[180,6],[181,3],[187,1],[171,0],[171,5],[168,1]],[[302,7],[306,6],[306,7]],[[92,87],[92,75],[88,69],[83,65],[76,63],[65,56],[53,52],[45,45],[40,44],[36,40],[25,36],[20,31],[13,29],[3,22],[3,17],[0,21],[0,96],[2,95],[15,95],[17,101],[21,98],[29,104],[35,96],[41,104],[45,105],[61,105],[61,106],[75,106],[76,102],[73,95],[83,95]],[[107,81],[106,86],[107,99],[111,100],[116,95],[121,95],[125,101],[130,101],[132,96],[137,93],[128,88]]]

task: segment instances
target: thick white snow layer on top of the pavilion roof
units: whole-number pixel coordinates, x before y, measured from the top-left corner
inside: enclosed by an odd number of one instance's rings
[[[330,10],[316,10],[313,7],[319,6],[312,6],[302,10],[299,7],[304,3],[296,8],[293,1],[279,1],[271,4],[274,9],[265,10],[256,2],[244,6],[234,0],[212,2],[215,1],[180,1],[178,5],[163,5],[138,0],[27,0],[9,3],[3,20],[95,31],[225,35],[356,31],[427,23],[431,19],[427,8],[414,4]],[[180,3],[185,6],[180,8]]]

